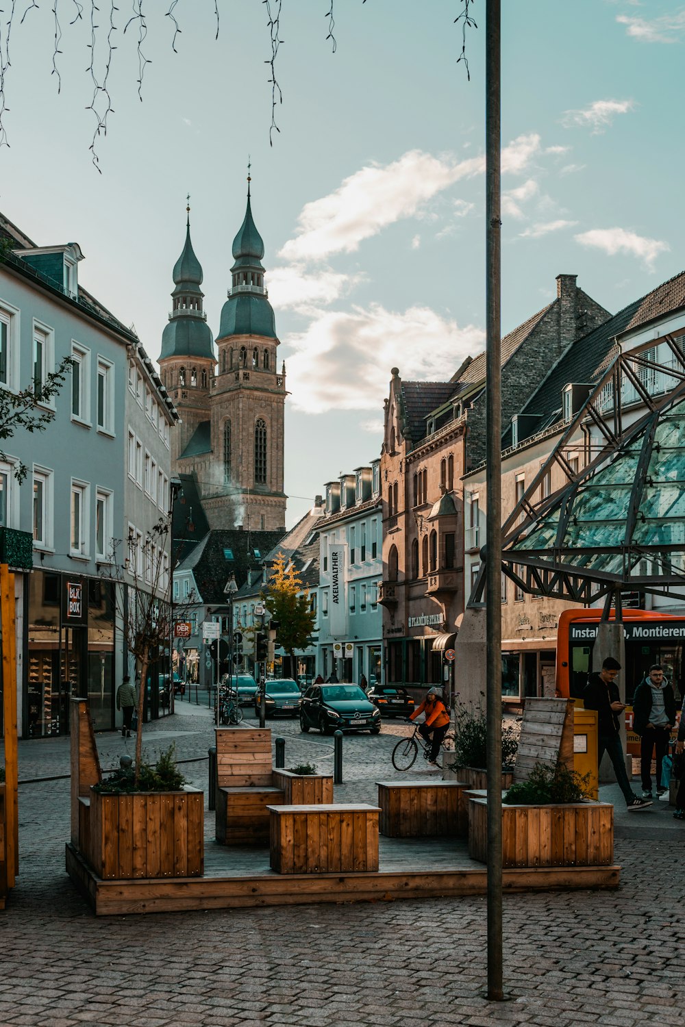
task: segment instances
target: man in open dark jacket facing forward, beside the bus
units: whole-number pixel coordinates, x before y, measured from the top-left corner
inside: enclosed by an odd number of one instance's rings
[[[676,723],[676,696],[663,677],[663,669],[652,663],[633,696],[633,730],[640,735],[640,773],[642,798],[651,799],[652,753],[656,751],[656,794],[667,791],[661,785],[663,757],[669,751],[671,729]]]

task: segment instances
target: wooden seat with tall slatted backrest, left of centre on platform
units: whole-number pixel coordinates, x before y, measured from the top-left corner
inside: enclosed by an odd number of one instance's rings
[[[269,803],[282,803],[274,787],[269,728],[217,728],[217,841],[268,845]]]

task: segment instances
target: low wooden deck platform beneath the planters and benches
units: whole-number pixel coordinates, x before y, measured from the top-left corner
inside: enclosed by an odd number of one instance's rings
[[[309,903],[378,902],[484,895],[486,869],[469,860],[465,842],[453,838],[381,838],[379,871],[352,874],[289,874],[269,869],[269,849],[217,844],[214,825],[204,839],[204,875],[104,881],[67,844],[67,872],[98,916],[236,909]],[[619,868],[511,869],[505,891],[615,888]]]

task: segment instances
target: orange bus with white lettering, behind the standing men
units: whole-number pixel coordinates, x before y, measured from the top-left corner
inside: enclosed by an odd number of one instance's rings
[[[602,617],[598,609],[564,610],[557,634],[557,691],[570,698],[582,698],[593,665],[593,646]],[[610,620],[613,620],[613,613]],[[685,697],[683,648],[685,618],[657,610],[623,610],[625,665],[625,728],[629,752],[639,753],[640,739],[633,733],[633,695],[652,663],[660,663],[676,692]],[[679,701],[680,706],[680,701]]]

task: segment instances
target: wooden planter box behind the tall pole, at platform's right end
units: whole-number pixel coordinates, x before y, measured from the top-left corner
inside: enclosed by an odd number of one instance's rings
[[[502,806],[502,866],[607,867],[614,855],[614,807],[608,802]],[[487,862],[488,802],[469,799],[468,854]]]

